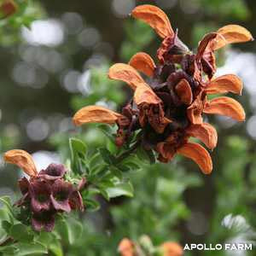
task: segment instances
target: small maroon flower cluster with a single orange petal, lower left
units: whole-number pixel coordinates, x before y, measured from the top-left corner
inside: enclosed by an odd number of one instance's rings
[[[79,190],[84,188],[85,180],[74,188],[64,180],[67,171],[63,165],[50,164],[37,172],[32,156],[18,149],[6,152],[4,160],[19,166],[30,177],[19,180],[22,197],[15,205],[29,212],[34,230],[53,230],[57,212],[84,211]]]

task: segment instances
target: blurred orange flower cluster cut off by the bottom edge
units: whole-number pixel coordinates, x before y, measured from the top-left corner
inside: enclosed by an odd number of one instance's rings
[[[166,241],[160,247],[154,247],[148,236],[142,236],[138,243],[128,238],[123,238],[119,242],[118,252],[121,256],[151,255],[145,253],[145,250],[154,255],[157,252],[157,255],[162,256],[183,256],[183,248],[175,241]]]

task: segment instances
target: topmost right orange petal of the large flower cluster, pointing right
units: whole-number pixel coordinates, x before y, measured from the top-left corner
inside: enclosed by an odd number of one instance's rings
[[[245,27],[239,25],[223,26],[218,30],[218,34],[222,35],[225,41],[218,41],[217,44],[214,44],[213,49],[220,49],[226,44],[253,41],[252,34]]]

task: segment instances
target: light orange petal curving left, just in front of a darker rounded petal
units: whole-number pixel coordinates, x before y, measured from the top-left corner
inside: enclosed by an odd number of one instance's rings
[[[110,67],[108,78],[124,81],[129,84],[133,90],[136,90],[138,84],[145,83],[140,74],[137,73],[136,69],[123,63],[117,63]]]

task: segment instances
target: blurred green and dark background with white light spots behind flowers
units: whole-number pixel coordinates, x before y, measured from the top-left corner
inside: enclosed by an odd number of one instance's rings
[[[155,58],[160,38],[129,16],[142,3],[164,9],[190,49],[205,33],[226,24],[256,34],[254,0],[32,1],[24,18],[32,21],[30,28],[19,26],[20,20],[0,21],[1,153],[25,149],[41,169],[65,160],[68,137],[83,137],[90,148],[106,143],[94,125],[75,129],[71,117],[89,104],[121,108],[131,91],[107,79],[108,67],[127,62],[140,50]],[[218,54],[218,66],[217,75],[235,73],[244,81],[239,101],[247,121],[211,119],[219,134],[212,175],[205,177],[182,158],[134,170],[134,198],[99,198],[101,210],[81,217],[84,236],[66,246],[65,255],[115,255],[125,236],[138,240],[148,235],[156,245],[255,240],[256,44],[225,48]],[[0,164],[0,195],[15,198],[20,172]],[[213,253],[255,255],[185,255]]]

